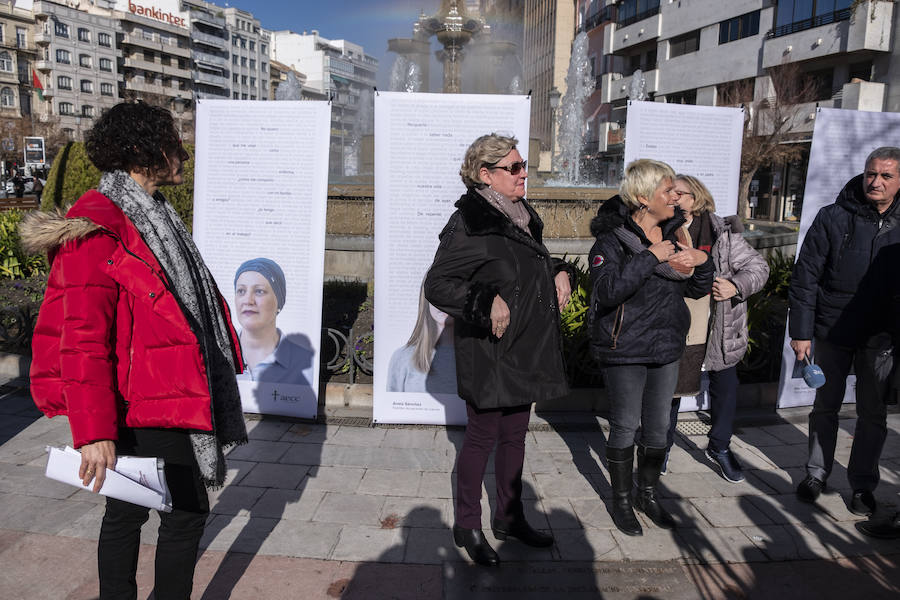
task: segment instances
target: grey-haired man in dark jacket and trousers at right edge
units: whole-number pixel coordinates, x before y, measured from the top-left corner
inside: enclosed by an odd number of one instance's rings
[[[790,288],[791,348],[797,360],[811,356],[825,373],[809,415],[806,478],[797,487],[804,502],[815,502],[834,463],[838,411],[851,366],[856,373],[856,431],[847,466],[853,495],[850,510],[875,511],[878,460],[887,435],[885,401],[889,382],[876,375],[889,352],[888,325],[879,319],[878,286],[867,273],[879,253],[900,243],[900,148],[882,147],[866,159],[834,204],[816,215],[803,240]],[[882,315],[883,316],[883,315]]]

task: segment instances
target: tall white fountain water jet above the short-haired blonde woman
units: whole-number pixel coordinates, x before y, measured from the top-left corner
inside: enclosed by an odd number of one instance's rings
[[[559,173],[559,179],[553,185],[573,186],[582,183],[581,153],[586,133],[584,105],[593,91],[588,36],[581,32],[572,44],[572,58],[566,73],[566,93],[557,112],[560,148],[554,157],[554,170]]]

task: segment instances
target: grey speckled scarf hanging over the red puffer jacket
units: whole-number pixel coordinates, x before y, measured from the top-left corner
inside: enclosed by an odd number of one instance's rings
[[[247,429],[234,376],[232,339],[218,288],[184,223],[161,193],[151,197],[124,171],[104,173],[97,190],[121,208],[137,228],[197,334],[206,362],[213,430],[192,431],[191,445],[203,483],[219,487],[225,482],[223,448],[246,443]]]

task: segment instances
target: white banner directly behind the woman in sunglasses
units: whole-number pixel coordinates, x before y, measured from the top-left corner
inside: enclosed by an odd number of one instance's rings
[[[465,193],[466,149],[496,132],[519,140],[527,160],[528,96],[378,92],[375,96],[375,373],[373,421],[462,424],[452,331],[446,315],[420,306],[438,234]],[[439,332],[428,373],[413,364],[420,318]],[[448,327],[444,327],[444,325]]]

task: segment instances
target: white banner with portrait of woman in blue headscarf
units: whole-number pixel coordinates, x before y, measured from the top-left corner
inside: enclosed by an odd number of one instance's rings
[[[330,122],[327,102],[197,105],[194,240],[241,335],[245,412],[316,416]]]

